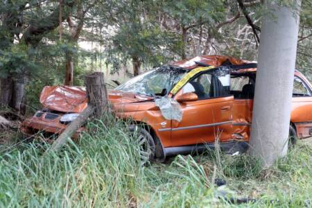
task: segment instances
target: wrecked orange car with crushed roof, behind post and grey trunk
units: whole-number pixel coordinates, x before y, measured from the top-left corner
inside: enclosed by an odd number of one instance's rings
[[[132,119],[145,159],[214,147],[248,148],[257,64],[223,55],[203,55],[143,73],[109,92],[121,119]],[[291,138],[312,137],[312,86],[295,71]],[[60,133],[87,106],[80,87],[45,87],[45,110],[22,123],[24,133]],[[144,124],[144,125],[142,125]],[[143,128],[137,128],[137,126]],[[78,137],[80,128],[74,137]]]

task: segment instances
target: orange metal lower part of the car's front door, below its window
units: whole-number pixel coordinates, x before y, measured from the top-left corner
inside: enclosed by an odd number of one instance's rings
[[[180,103],[181,122],[172,121],[172,145],[185,146],[232,139],[233,96]]]

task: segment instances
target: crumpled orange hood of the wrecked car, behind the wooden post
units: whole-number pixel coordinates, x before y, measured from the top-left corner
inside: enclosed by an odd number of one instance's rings
[[[108,93],[112,105],[152,101],[150,96],[112,90]],[[85,87],[46,86],[40,95],[40,103],[59,112],[83,112],[87,107]]]

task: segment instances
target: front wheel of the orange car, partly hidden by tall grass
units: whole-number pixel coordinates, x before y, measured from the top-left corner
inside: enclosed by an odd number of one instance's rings
[[[148,162],[155,161],[155,141],[150,133],[137,125],[131,126],[130,132],[139,145],[141,164],[146,165]]]

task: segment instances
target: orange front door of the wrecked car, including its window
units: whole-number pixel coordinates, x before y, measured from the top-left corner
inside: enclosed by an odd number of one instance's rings
[[[197,101],[180,103],[182,121],[172,121],[173,146],[226,141],[232,137],[233,96],[229,94],[229,71],[200,73],[180,89],[178,94],[193,92]]]

